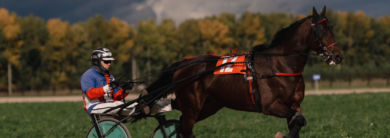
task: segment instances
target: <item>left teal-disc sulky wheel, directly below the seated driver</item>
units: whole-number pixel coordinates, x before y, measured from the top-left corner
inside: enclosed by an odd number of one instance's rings
[[[106,132],[109,131],[117,122],[119,121],[112,118],[105,118],[97,121],[102,135],[106,134]],[[92,125],[89,128],[87,135],[85,135],[85,138],[97,138],[97,137],[98,136],[95,127]],[[108,132],[106,138],[131,138],[131,136],[126,126],[124,126],[124,124],[122,123],[119,123],[118,126],[116,126],[113,129],[113,131]]]

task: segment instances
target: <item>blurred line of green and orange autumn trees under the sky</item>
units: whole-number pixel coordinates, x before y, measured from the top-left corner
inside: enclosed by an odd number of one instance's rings
[[[326,15],[345,59],[331,67],[321,57],[309,57],[305,74],[323,73],[330,80],[382,77],[388,81],[390,16],[373,18],[362,11],[332,9]],[[80,76],[92,66],[90,55],[98,47],[113,53],[110,73],[117,77],[127,74],[128,80],[159,73],[184,56],[226,55],[235,47],[244,53],[251,46],[268,44],[280,27],[305,16],[222,13],[178,25],[172,19],[163,19],[159,25],[154,19],[129,25],[97,14],[70,24],[32,14],[20,17],[0,8],[0,92],[80,89]]]

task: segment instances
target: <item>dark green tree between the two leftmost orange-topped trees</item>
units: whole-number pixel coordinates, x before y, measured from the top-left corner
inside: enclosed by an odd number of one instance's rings
[[[18,71],[18,88],[23,90],[38,91],[46,89],[46,84],[49,80],[43,76],[46,71],[42,62],[44,45],[48,42],[48,30],[44,19],[29,16],[20,21],[21,34],[20,39],[23,40],[21,49],[20,67]],[[23,94],[23,93],[22,93]]]

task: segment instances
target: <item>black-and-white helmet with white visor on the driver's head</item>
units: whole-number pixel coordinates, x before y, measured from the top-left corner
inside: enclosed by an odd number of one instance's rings
[[[112,53],[107,48],[97,48],[92,52],[91,62],[92,65],[100,66],[101,60],[114,60]]]

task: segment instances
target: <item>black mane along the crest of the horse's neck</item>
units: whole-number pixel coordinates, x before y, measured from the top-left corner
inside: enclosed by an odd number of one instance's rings
[[[267,50],[268,48],[276,46],[279,42],[283,41],[285,37],[291,34],[291,32],[294,32],[303,22],[305,22],[308,18],[311,18],[312,16],[309,15],[306,18],[303,18],[299,21],[294,21],[291,23],[289,27],[283,28],[280,27],[278,32],[272,37],[271,44],[266,45],[266,44],[259,44],[257,46],[252,47],[250,51],[264,51]]]

